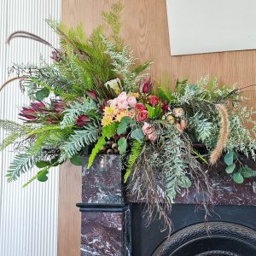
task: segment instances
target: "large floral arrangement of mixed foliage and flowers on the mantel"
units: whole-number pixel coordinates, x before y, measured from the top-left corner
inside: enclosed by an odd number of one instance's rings
[[[48,23],[60,37],[58,49],[28,32],[9,37],[48,44],[53,61],[13,65],[9,72],[17,76],[1,88],[18,79],[31,100],[20,110],[23,124],[0,120],[9,132],[0,148],[13,144],[16,151],[6,176],[11,182],[37,166],[38,174],[26,186],[35,179],[46,181],[50,167],[65,160],[82,165],[82,156],[90,154],[90,168],[96,154],[120,154],[128,190],[148,201],[148,221],[156,210],[171,230],[168,212],[183,190],[194,186],[198,201],[211,203],[205,167],[223,154],[227,175],[236,183],[253,177],[239,159],[243,154],[255,160],[255,112],[241,107],[244,89],[219,86],[216,79],[153,83],[148,78],[151,62],[136,66],[119,37],[121,9],[116,3],[102,13],[112,28],[109,37],[104,26],[87,37],[82,26],[67,29],[52,20]],[[247,129],[247,123],[253,128]]]

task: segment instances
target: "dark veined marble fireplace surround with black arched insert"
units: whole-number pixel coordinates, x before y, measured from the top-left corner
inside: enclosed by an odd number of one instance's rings
[[[125,196],[118,155],[99,155],[82,174],[81,256],[256,255],[256,198],[253,178],[236,185],[223,177],[220,162],[210,177],[216,206],[205,222],[193,189],[172,207],[173,235],[155,219],[146,227],[143,202]],[[251,161],[250,166],[255,166]]]

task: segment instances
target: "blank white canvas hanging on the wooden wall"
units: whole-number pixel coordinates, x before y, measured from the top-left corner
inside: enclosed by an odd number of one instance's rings
[[[256,0],[166,0],[172,55],[256,49]]]

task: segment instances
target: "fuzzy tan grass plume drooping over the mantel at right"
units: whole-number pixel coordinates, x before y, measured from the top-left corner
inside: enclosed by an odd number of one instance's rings
[[[230,120],[227,108],[225,108],[224,105],[221,104],[217,104],[215,108],[218,110],[218,114],[221,117],[221,124],[218,136],[218,143],[216,144],[216,147],[214,148],[210,156],[211,165],[214,165],[223,153],[226,143],[228,141],[230,129]]]

